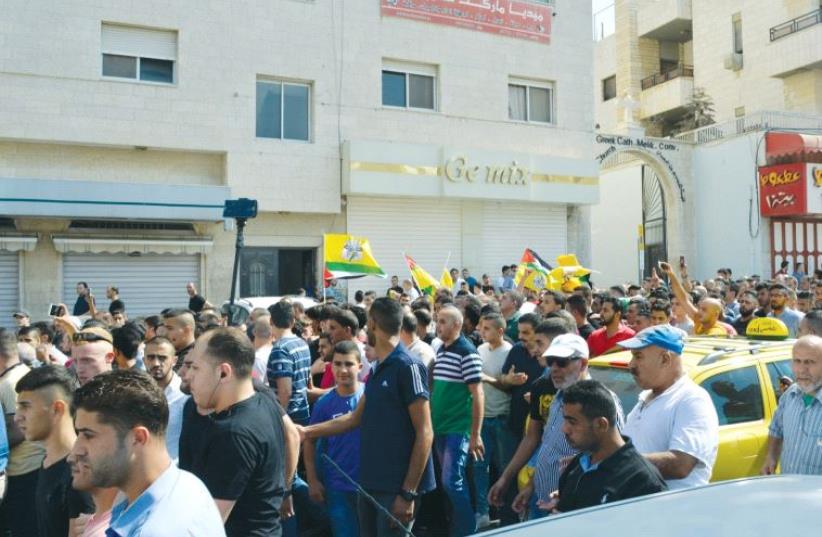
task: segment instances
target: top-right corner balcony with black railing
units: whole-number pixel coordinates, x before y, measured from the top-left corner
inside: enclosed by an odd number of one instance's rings
[[[822,68],[822,8],[771,28],[765,59],[777,78]]]

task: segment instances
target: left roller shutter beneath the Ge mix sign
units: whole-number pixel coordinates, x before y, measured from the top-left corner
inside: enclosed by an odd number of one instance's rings
[[[449,265],[462,263],[459,201],[350,197],[347,212],[348,233],[368,238],[374,257],[389,276],[385,280],[352,280],[349,290],[373,289],[384,295],[392,275],[400,281],[409,277],[403,252],[435,278],[439,278],[449,252]]]

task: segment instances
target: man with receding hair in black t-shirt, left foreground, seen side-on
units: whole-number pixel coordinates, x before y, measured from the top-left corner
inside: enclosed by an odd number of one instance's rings
[[[193,452],[181,437],[180,466],[205,483],[229,537],[282,533],[282,422],[274,401],[254,390],[253,366],[254,346],[248,337],[234,328],[217,328],[197,340],[185,373],[194,403],[213,412],[207,425],[197,419],[200,438]],[[186,431],[191,410],[184,418]]]

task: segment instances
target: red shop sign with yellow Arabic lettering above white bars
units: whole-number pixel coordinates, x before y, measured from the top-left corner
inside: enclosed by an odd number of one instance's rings
[[[762,216],[805,214],[807,185],[804,163],[759,168],[759,212]]]

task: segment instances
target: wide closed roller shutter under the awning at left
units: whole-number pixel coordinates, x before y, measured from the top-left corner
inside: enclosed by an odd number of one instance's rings
[[[65,254],[63,300],[71,309],[77,282],[88,282],[97,309],[108,310],[106,287],[120,289],[130,318],[157,315],[165,308],[188,307],[186,283],[200,280],[198,255]],[[199,287],[199,285],[198,285]]]

